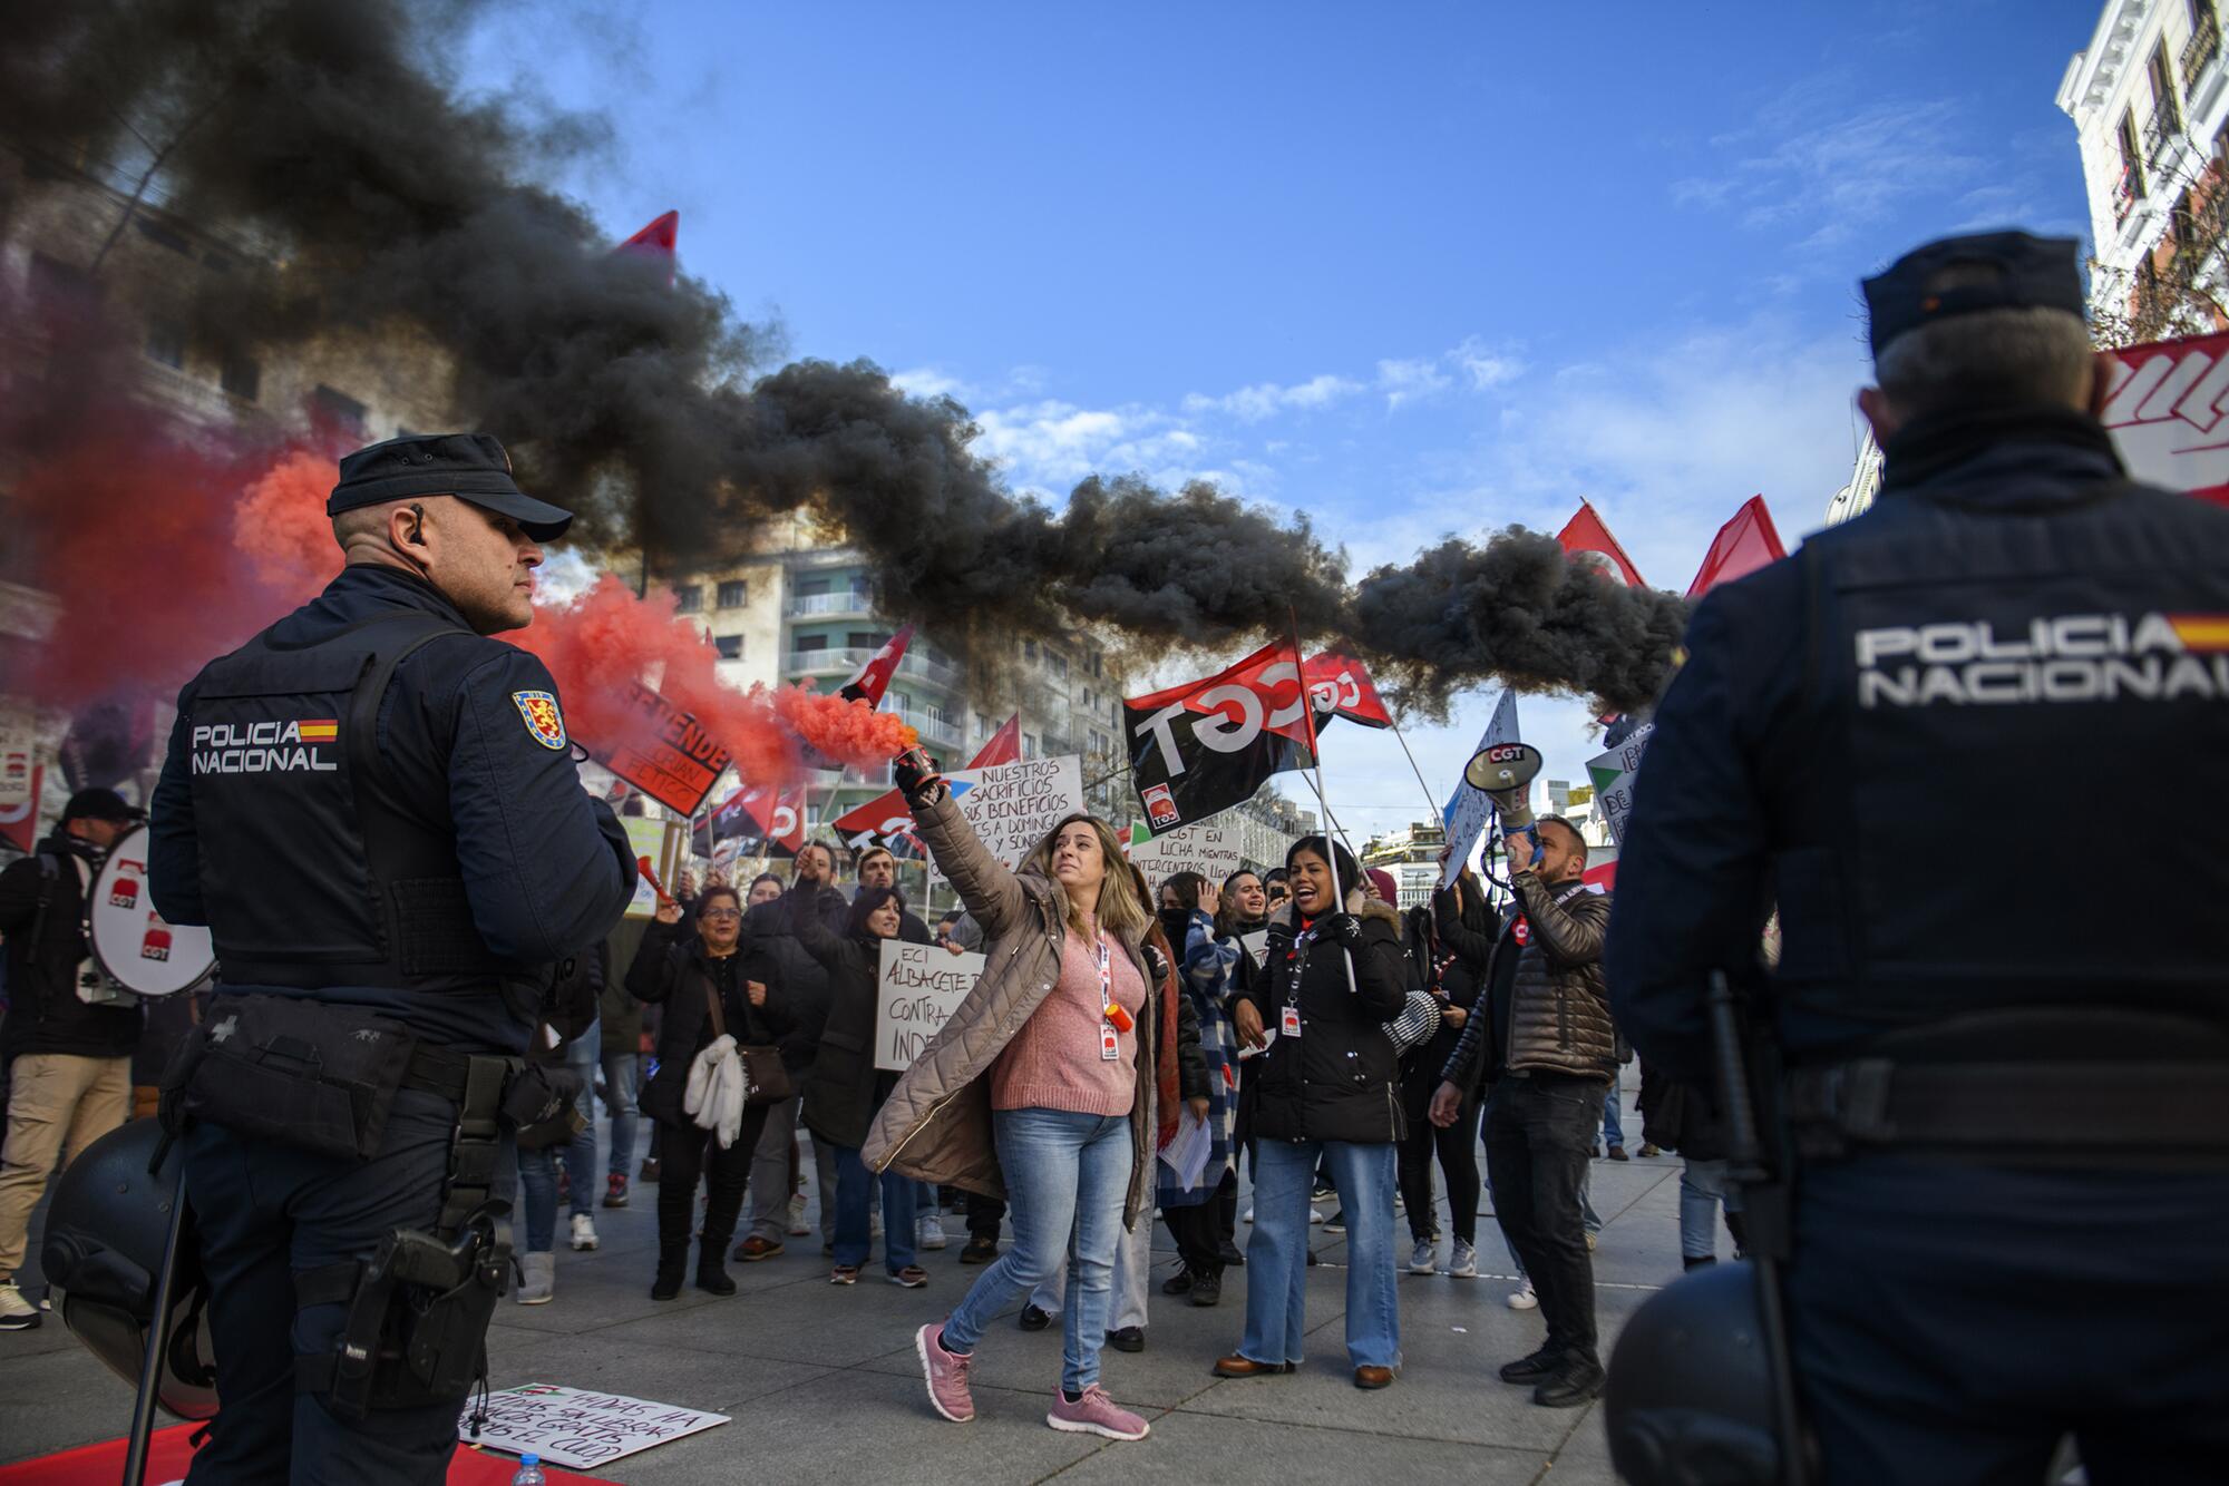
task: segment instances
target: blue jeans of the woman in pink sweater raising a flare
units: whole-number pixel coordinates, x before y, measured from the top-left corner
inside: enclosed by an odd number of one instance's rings
[[[994,1109],[990,1118],[1012,1203],[1014,1245],[976,1277],[945,1319],[945,1346],[972,1352],[992,1317],[1061,1263],[1074,1234],[1068,1303],[1061,1308],[1061,1388],[1083,1392],[1099,1381],[1099,1348],[1108,1335],[1114,1245],[1121,1239],[1123,1199],[1130,1194],[1130,1116]],[[1146,1214],[1139,1214],[1139,1223],[1143,1221]],[[1386,1196],[1386,1223],[1391,1221],[1393,1199]]]

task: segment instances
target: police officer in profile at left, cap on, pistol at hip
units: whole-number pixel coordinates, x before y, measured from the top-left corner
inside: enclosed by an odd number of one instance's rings
[[[192,1482],[446,1477],[508,1265],[481,1203],[519,1054],[635,878],[555,682],[495,639],[571,512],[488,434],[357,450],[328,512],[348,566],[185,686],[154,795],[154,902],[221,962],[165,1085],[223,1399]],[[470,1303],[428,1310],[444,1245]]]

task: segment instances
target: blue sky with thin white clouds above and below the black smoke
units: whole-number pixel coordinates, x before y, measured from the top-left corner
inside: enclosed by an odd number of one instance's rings
[[[617,16],[506,9],[468,51],[609,111],[564,185],[615,236],[680,207],[687,272],[952,392],[1016,488],[1208,475],[1357,573],[1583,495],[1663,588],[1754,492],[1794,539],[1857,446],[1857,278],[2086,234],[2053,96],[2095,0]],[[1520,706],[1585,780],[1583,708]],[[1411,731],[1438,793],[1489,708]],[[1420,815],[1342,733],[1342,822]]]

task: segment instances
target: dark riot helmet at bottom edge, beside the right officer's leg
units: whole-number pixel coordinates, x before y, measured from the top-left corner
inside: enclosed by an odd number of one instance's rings
[[[1609,1461],[1634,1486],[1777,1486],[1756,1270],[1694,1270],[1634,1312],[1603,1388]]]

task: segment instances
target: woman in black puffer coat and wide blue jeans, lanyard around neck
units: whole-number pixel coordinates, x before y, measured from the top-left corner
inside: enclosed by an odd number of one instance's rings
[[[1346,891],[1344,907],[1333,889]],[[1400,916],[1351,884],[1355,860],[1322,835],[1286,851],[1291,909],[1271,918],[1264,974],[1239,994],[1239,1040],[1257,1074],[1255,1230],[1246,1245],[1246,1339],[1221,1377],[1291,1372],[1308,1330],[1308,1194],[1324,1163],[1346,1208],[1346,1359],[1357,1388],[1400,1368],[1393,1294],[1393,1147],[1400,1067],[1384,1023],[1400,1016],[1409,960]]]

